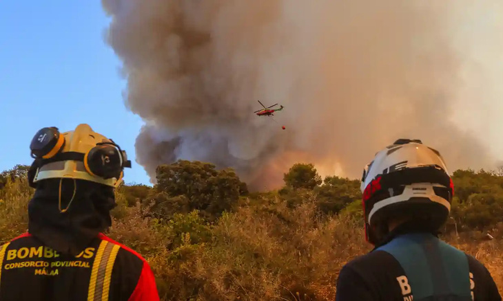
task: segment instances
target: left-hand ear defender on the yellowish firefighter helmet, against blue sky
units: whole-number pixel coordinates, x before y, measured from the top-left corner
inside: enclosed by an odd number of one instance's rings
[[[31,156],[35,159],[49,159],[57,155],[65,146],[65,137],[58,128],[43,128],[34,135],[30,144]]]

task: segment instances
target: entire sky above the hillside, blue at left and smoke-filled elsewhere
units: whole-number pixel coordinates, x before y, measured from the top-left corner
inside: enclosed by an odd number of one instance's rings
[[[127,106],[156,123],[138,140],[151,174],[187,158],[267,182],[298,160],[357,176],[404,135],[455,168],[503,159],[500,0],[103,3],[113,50],[100,1],[0,1],[0,170],[30,164],[39,128],[88,123],[148,183]],[[285,104],[286,131],[257,99]]]

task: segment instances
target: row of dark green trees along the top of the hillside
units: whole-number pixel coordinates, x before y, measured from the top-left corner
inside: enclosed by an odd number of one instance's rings
[[[9,181],[25,181],[29,166],[17,165],[0,172],[0,189]],[[459,231],[488,230],[503,223],[502,168],[487,172],[456,170],[453,172],[455,197],[450,224]],[[313,164],[294,164],[283,177],[285,185],[278,196],[289,207],[300,205],[307,198],[315,198],[321,214],[345,212],[361,216],[360,181],[330,176],[322,179]],[[247,197],[271,196],[270,192],[249,194],[247,185],[234,170],[216,170],[214,164],[200,161],[176,161],[158,166],[157,183],[122,185],[119,193],[127,205],[142,203],[150,214],[169,220],[174,214],[188,214],[197,210],[207,221],[218,219],[225,211],[232,211],[238,200]]]

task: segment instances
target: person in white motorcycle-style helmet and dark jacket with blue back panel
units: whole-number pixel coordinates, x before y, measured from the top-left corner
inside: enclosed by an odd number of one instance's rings
[[[397,140],[362,178],[366,238],[375,248],[342,267],[336,301],[500,301],[489,271],[440,241],[453,183],[437,150]]]

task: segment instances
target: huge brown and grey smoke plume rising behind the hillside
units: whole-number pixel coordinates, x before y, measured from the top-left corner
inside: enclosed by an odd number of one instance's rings
[[[453,120],[466,100],[462,45],[477,36],[460,34],[469,3],[103,0],[125,104],[145,120],[137,161],[152,179],[158,164],[210,161],[261,189],[296,161],[359,177],[411,137],[451,171],[491,166],[484,141]],[[257,100],[285,109],[258,117]]]

